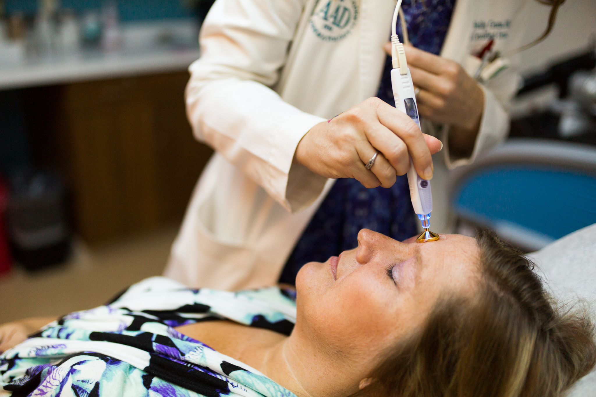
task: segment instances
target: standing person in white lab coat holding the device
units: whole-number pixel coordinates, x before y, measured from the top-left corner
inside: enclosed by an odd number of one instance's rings
[[[508,132],[513,53],[534,38],[517,20],[526,5],[403,1],[423,135],[393,108],[394,1],[217,0],[186,91],[194,135],[216,153],[164,275],[229,290],[292,283],[304,263],[356,246],[362,228],[411,237],[408,155],[432,178],[432,229],[451,232],[449,170]]]

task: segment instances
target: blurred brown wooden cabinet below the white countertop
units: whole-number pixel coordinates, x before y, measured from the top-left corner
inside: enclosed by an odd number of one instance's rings
[[[34,158],[62,171],[89,243],[179,221],[212,150],[185,115],[188,73],[27,90]]]

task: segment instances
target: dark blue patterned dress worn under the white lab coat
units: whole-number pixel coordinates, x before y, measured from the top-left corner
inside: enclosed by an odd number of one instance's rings
[[[438,55],[454,5],[455,0],[403,0],[402,10],[412,45]],[[399,20],[397,30],[399,37],[403,37]],[[395,106],[391,69],[391,57],[387,57],[377,96]],[[402,241],[416,234],[417,222],[405,175],[398,176],[389,189],[367,189],[355,179],[338,179],[294,246],[280,282],[293,284],[305,263],[324,262],[355,248],[360,229],[371,229]]]

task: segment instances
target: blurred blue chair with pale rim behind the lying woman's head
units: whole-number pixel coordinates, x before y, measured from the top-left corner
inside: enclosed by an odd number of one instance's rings
[[[451,205],[529,251],[596,223],[596,147],[510,139],[452,174]]]

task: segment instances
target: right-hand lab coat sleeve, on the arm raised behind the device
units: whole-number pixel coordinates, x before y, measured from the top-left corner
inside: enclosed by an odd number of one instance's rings
[[[442,142],[446,146],[445,164],[449,170],[474,162],[479,155],[501,143],[509,133],[509,109],[511,98],[520,81],[519,74],[511,68],[480,85],[484,92],[484,108],[480,119],[480,129],[474,149],[468,158],[456,158],[449,151],[449,126],[443,126]]]

